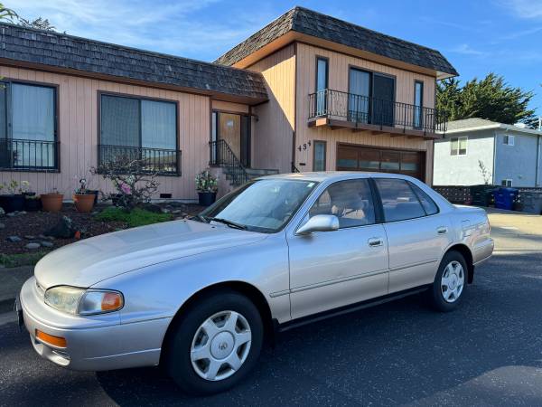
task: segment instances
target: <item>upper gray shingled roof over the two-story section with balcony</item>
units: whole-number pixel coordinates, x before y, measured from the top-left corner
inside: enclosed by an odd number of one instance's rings
[[[458,75],[452,64],[438,51],[299,6],[281,15],[271,24],[267,24],[246,41],[220,56],[215,62],[233,65],[289,31],[312,35],[435,71]]]

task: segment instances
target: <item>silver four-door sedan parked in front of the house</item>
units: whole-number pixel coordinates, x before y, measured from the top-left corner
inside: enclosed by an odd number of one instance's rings
[[[192,220],[53,251],[19,301],[33,348],[55,364],[164,364],[184,391],[217,393],[279,331],[422,291],[456,308],[492,251],[483,210],[414,178],[274,175]]]

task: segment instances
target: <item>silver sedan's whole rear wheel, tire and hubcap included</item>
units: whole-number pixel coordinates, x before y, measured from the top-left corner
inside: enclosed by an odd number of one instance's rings
[[[429,305],[441,312],[459,307],[465,296],[467,280],[468,268],[463,254],[448,251],[438,267],[433,287],[427,290]]]

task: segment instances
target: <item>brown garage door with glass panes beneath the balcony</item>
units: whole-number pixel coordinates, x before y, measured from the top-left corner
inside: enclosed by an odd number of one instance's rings
[[[425,152],[340,144],[337,170],[405,174],[425,181]]]

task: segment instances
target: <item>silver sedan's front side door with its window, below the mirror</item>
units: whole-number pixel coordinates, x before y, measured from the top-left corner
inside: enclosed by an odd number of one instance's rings
[[[292,317],[388,293],[388,242],[367,179],[330,185],[305,220],[334,214],[340,229],[288,238]]]

